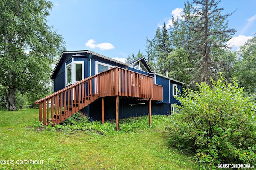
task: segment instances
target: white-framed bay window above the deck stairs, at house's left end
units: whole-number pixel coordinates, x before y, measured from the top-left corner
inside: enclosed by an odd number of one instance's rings
[[[66,65],[66,86],[84,79],[84,61],[73,61]]]

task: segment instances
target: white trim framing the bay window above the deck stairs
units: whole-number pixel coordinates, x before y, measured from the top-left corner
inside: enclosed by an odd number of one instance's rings
[[[71,64],[71,82],[70,83],[67,83],[68,82],[68,72],[67,72],[67,67],[70,66]],[[66,84],[66,87],[67,86],[70,86],[71,84],[75,84],[77,83],[78,81],[75,81],[76,80],[76,64],[82,64],[82,80],[84,79],[84,61],[74,61],[74,59],[72,58],[72,62],[69,63],[68,65],[65,66],[65,84]]]

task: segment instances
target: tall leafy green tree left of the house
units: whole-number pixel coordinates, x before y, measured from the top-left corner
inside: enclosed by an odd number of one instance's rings
[[[16,91],[43,92],[62,37],[46,24],[52,2],[0,1],[0,87],[7,110],[16,110]]]

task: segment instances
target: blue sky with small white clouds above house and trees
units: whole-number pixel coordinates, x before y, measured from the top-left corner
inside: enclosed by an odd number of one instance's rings
[[[123,61],[145,51],[146,37],[179,16],[186,0],[51,0],[48,25],[62,35],[68,51],[91,50]],[[222,0],[223,13],[237,30],[229,41],[237,50],[256,33],[256,0]]]

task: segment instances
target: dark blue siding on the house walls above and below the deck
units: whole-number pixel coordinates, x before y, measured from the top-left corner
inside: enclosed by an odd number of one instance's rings
[[[74,61],[84,61],[84,78],[87,78],[89,75],[88,72],[88,58],[89,53],[79,53],[79,52],[72,52],[72,53],[65,53],[62,56],[58,66],[56,67],[56,71],[54,72],[54,92],[65,88],[65,63],[69,64],[72,62],[72,55],[84,55],[84,56],[73,56]],[[99,61],[101,63],[109,64],[112,66],[118,66],[121,68],[127,68],[128,70],[138,72],[144,75],[153,76],[148,72],[144,72],[141,70],[137,70],[126,65],[116,63],[114,61],[110,61],[99,57],[97,55],[93,55],[91,58],[91,75],[95,75],[95,61]],[[179,102],[174,99],[173,97],[173,84],[176,84],[179,90],[182,90],[182,84],[172,81],[168,78],[156,75],[155,82],[158,85],[163,86],[163,101],[162,102],[152,102],[152,115],[154,114],[161,114],[166,115],[170,111],[170,105]],[[106,97],[105,99],[105,119],[115,119],[115,97]],[[135,103],[142,103],[143,100],[138,100],[136,98],[128,98],[120,96],[119,100],[119,118],[123,119],[125,117],[134,117],[134,116],[142,116],[148,115],[148,101],[145,100],[144,105],[133,105],[130,106],[129,104]],[[89,109],[88,109],[89,108]],[[92,119],[100,120],[101,119],[101,99],[94,101],[90,106],[85,107],[83,112],[92,117]]]

